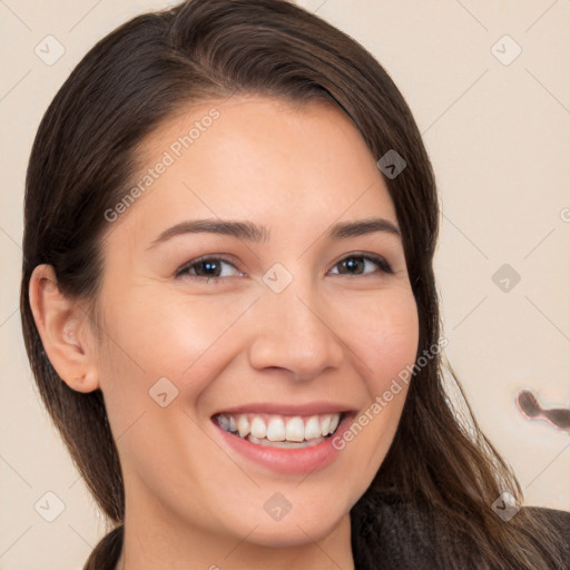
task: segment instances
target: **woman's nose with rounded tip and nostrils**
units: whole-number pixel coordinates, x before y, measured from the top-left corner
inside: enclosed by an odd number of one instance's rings
[[[311,380],[342,365],[344,343],[324,304],[298,292],[268,291],[257,303],[249,363],[259,371],[283,368],[293,380]]]

